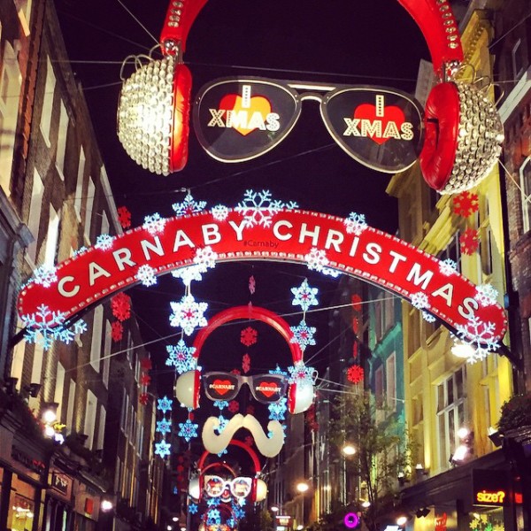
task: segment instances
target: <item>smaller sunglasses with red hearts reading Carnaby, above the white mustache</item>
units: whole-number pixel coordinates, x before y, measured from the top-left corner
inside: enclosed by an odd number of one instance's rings
[[[242,376],[235,373],[204,373],[204,391],[211,400],[234,400],[246,383],[251,395],[262,404],[278,402],[286,394],[288,380],[283,374],[255,374]]]

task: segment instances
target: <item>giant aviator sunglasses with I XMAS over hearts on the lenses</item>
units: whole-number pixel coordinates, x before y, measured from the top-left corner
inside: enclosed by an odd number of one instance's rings
[[[328,92],[319,94],[323,89]],[[319,101],[328,133],[361,164],[396,173],[417,160],[422,108],[404,92],[383,87],[322,88],[253,77],[216,80],[199,90],[194,130],[213,158],[242,162],[272,150],[289,135],[304,99]]]

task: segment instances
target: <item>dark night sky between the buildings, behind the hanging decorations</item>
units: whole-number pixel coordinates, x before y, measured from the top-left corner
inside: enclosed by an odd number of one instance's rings
[[[273,198],[296,201],[305,209],[342,217],[364,213],[369,225],[396,231],[396,200],[385,194],[389,174],[374,173],[344,153],[328,135],[316,102],[304,102],[289,137],[260,158],[220,163],[204,152],[192,132],[189,162],[183,171],[162,177],[143,170],[128,158],[116,134],[119,73],[127,56],[147,54],[156,42],[124,5],[158,40],[167,3],[57,0],[56,5],[73,71],[85,89],[115,202],[133,213],[134,226],[154,212],[172,216],[171,204],[184,198],[181,189],[190,189],[196,200],[207,201],[207,208],[219,203],[235,206],[246,189],[269,189]],[[428,53],[419,28],[394,0],[211,0],[190,31],[184,54],[193,74],[192,95],[207,81],[237,75],[381,85],[412,94],[421,58],[428,58]],[[257,281],[252,296],[248,289],[251,274]],[[207,317],[251,300],[285,315],[295,326],[300,315],[289,316],[296,312],[290,288],[300,285],[304,277],[319,286],[319,308],[326,309],[338,281],[304,266],[219,265],[204,275],[203,282],[194,282],[192,292],[196,300],[209,303]],[[150,289],[129,290],[144,340],[154,341],[150,351],[163,372],[165,345],[178,340],[177,336],[164,339],[177,332],[168,326],[169,301],[179,300],[183,293],[181,282],[171,275]],[[325,347],[328,318],[327,311],[307,316],[308,324],[318,327],[318,344],[306,350],[305,358]],[[251,366],[258,369],[264,359],[272,361],[273,355],[280,357],[284,367],[289,364],[286,345],[260,344],[250,350]],[[231,350],[235,366],[241,363],[237,336],[220,338],[210,350],[213,357]]]

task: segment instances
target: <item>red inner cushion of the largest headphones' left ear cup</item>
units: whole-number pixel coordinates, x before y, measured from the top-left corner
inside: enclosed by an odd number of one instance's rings
[[[192,74],[180,63],[173,74],[173,136],[170,153],[170,172],[179,172],[188,160],[190,93]]]

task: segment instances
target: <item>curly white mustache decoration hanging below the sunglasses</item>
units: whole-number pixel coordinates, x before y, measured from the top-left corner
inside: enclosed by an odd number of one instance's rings
[[[241,427],[245,427],[250,431],[258,450],[264,457],[274,458],[281,452],[282,446],[284,446],[284,429],[278,420],[270,420],[267,424],[267,429],[273,435],[269,438],[255,417],[242,415],[241,413],[235,414],[219,435],[215,432],[219,428],[218,417],[206,419],[201,435],[204,449],[213,454],[222,452],[227,448],[231,439]]]

